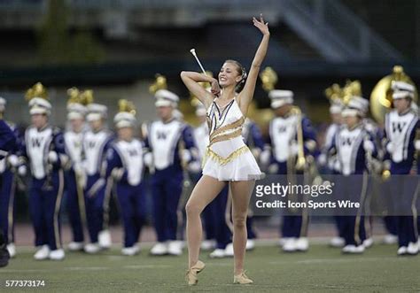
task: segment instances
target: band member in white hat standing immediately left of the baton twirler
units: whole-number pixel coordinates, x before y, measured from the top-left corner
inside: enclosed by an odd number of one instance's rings
[[[181,255],[182,243],[176,241],[177,211],[183,192],[184,168],[193,164],[197,152],[191,127],[176,120],[174,110],[179,97],[167,89],[155,93],[159,120],[148,127],[145,139],[149,153],[144,163],[152,174],[153,218],[158,243],[152,255]]]

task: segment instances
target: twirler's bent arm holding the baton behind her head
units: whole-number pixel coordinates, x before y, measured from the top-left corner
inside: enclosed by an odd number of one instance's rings
[[[194,73],[191,71],[183,71],[181,73],[181,79],[183,83],[192,93],[197,96],[198,100],[203,103],[206,108],[213,103],[214,96],[219,96],[220,88],[219,83],[216,79],[210,76],[206,76],[203,73]],[[209,82],[212,85],[212,91],[208,92],[198,82]]]

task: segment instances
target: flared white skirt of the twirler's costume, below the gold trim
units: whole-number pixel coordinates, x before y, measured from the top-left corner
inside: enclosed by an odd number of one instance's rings
[[[203,166],[203,175],[213,177],[219,181],[250,181],[262,179],[265,174],[261,173],[253,153],[246,150],[238,154],[229,163],[221,165],[212,156],[207,156]]]

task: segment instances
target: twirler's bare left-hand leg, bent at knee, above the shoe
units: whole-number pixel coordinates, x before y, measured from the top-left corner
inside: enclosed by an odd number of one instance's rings
[[[198,261],[199,247],[203,228],[200,214],[207,204],[210,204],[222,191],[225,181],[204,175],[192,190],[185,210],[187,212],[187,240],[188,240],[188,267],[194,266]]]

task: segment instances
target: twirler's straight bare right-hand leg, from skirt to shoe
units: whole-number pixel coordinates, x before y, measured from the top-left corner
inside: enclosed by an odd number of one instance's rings
[[[255,181],[232,181],[232,220],[233,220],[233,251],[235,260],[234,274],[244,271],[246,248],[246,215],[253,193]]]

